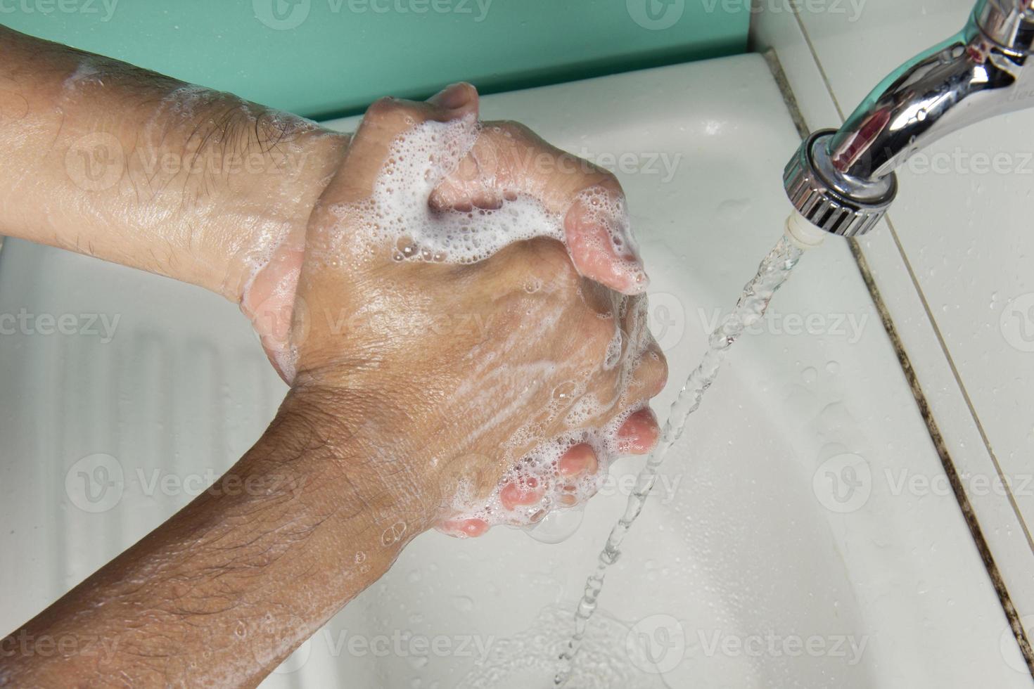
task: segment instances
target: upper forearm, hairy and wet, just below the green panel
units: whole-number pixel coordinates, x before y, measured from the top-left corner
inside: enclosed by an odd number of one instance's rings
[[[239,302],[346,138],[0,27],[0,233]]]

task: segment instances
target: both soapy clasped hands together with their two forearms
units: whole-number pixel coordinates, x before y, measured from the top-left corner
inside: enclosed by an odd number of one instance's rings
[[[293,385],[212,490],[7,637],[10,684],[254,686],[420,531],[531,522],[655,442],[619,187],[479,125],[472,87],[349,140],[2,27],[0,53],[25,106],[0,232],[240,302]]]

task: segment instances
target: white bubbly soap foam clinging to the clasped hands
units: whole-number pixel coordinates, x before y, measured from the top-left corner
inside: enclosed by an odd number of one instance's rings
[[[370,197],[330,207],[331,213],[341,222],[339,229],[328,237],[329,255],[323,258],[334,263],[345,253],[356,255],[358,249],[360,256],[374,260],[390,257],[395,261],[475,263],[511,244],[533,238],[551,238],[566,245],[564,215],[550,212],[540,200],[526,194],[512,194],[503,199],[498,208],[492,209],[440,210],[430,205],[432,193],[472,154],[481,133],[480,123],[472,116],[449,122],[419,123],[398,136],[389,149]],[[359,136],[362,136],[361,131]],[[586,209],[590,221],[607,228],[605,237],[609,237],[613,253],[641,273],[624,199],[594,188],[582,192],[575,201]],[[619,270],[628,274],[632,269]],[[535,294],[543,286],[541,281],[530,280],[524,289]],[[628,389],[650,342],[645,307],[644,296],[617,295],[613,303],[614,315],[601,315],[610,319],[614,327],[604,361],[600,362],[600,370],[616,376],[614,396],[600,399],[585,394],[586,383],[596,373],[592,371],[585,372],[583,379],[573,379],[557,386],[546,411],[549,421],[559,419],[567,430],[547,437],[541,425],[536,425],[516,433],[499,448],[499,457],[518,461],[507,471],[487,502],[477,500],[473,487],[460,490],[452,504],[458,513],[456,519],[477,519],[489,526],[527,526],[551,509],[582,502],[596,493],[608,467],[618,456],[618,429],[630,414],[641,408],[637,401],[629,399]],[[515,335],[521,335],[523,340],[523,334]],[[515,346],[525,345],[517,343]],[[467,393],[477,395],[477,390]],[[515,393],[515,399],[519,397]],[[497,400],[485,400],[484,404],[492,405],[496,414],[506,411],[506,404]],[[608,414],[610,420],[606,426],[583,428]],[[487,425],[491,425],[491,420]],[[574,478],[562,476],[560,458],[579,443],[592,448],[600,470]],[[518,451],[527,446],[534,449],[521,458]],[[543,495],[534,504],[507,508],[501,494],[513,490],[507,489],[508,484],[516,487],[521,496],[540,491]],[[458,529],[443,530],[463,535]]]

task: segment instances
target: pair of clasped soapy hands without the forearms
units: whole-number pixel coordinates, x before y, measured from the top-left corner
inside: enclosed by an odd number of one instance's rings
[[[384,490],[455,535],[591,495],[653,445],[666,378],[616,180],[477,114],[469,85],[374,103],[243,302]]]

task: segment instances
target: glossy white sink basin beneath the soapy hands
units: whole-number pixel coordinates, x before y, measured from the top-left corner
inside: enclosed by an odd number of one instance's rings
[[[764,61],[490,96],[483,115],[616,162],[670,363],[663,418],[788,212],[780,175],[797,136]],[[154,471],[218,473],[283,394],[243,317],[199,289],[9,242],[0,312],[23,306],[121,319],[110,344],[0,338],[0,586],[24,592],[5,597],[7,628],[190,499],[148,495]],[[846,244],[804,257],[768,323],[670,453],[601,598],[610,645],[586,650],[634,676],[620,687],[1031,686],[953,497],[902,489],[942,470]],[[91,512],[64,479],[94,453],[124,488]],[[265,686],[534,689],[535,632],[573,608],[641,463],[612,469],[564,543],[419,537]],[[627,639],[656,664],[628,660]],[[479,685],[486,651],[517,669]]]

